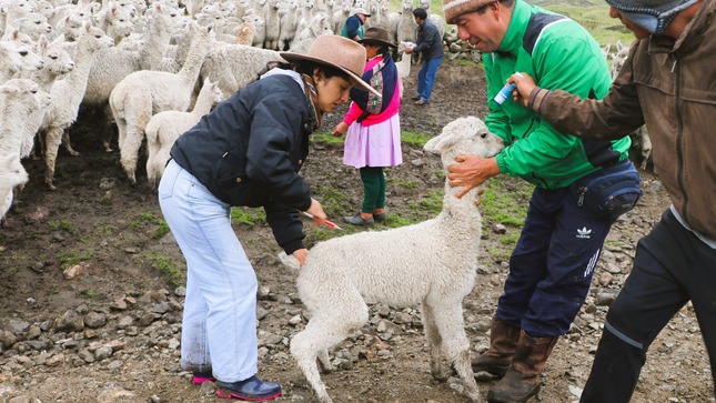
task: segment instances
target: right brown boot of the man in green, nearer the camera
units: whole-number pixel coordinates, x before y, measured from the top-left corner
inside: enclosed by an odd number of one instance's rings
[[[487,393],[490,403],[526,402],[539,391],[539,374],[559,337],[533,339],[524,331],[505,376]]]

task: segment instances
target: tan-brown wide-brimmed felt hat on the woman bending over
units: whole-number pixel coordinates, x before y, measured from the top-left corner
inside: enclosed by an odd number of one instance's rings
[[[365,48],[352,39],[323,34],[313,41],[307,53],[279,52],[279,54],[289,62],[306,60],[336,68],[349,74],[357,89],[381,95],[361,78],[365,70]]]

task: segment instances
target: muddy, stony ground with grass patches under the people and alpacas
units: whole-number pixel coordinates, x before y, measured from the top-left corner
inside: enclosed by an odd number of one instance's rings
[[[410,97],[415,71],[406,87]],[[461,115],[484,117],[484,98],[480,68],[445,63],[430,105],[405,102],[403,129],[436,133]],[[323,129],[339,118],[327,117]],[[168,273],[172,264],[181,265],[181,254],[171,234],[161,232],[161,212],[145,177],[131,187],[117,152],[100,151],[97,128],[89,115],[73,128],[82,155],[60,155],[57,191],[42,183],[41,162],[26,161],[31,181],[0,230],[0,402],[213,402],[213,384],[192,385],[178,365],[183,289],[181,276]],[[353,213],[362,192],[357,172],[342,165],[340,147],[314,145],[302,173],[319,200],[330,191],[345,197],[342,208],[329,211],[332,218]],[[389,212],[427,219],[432,213],[420,205],[442,189],[438,161],[416,147],[406,145],[404,153],[405,163],[389,174]],[[521,185],[503,179],[497,192]],[[654,174],[644,173],[644,191],[638,206],[612,230],[587,303],[547,363],[538,401],[574,401],[584,385],[634,245],[668,205]],[[474,354],[487,346],[490,316],[507,273],[504,233],[520,231],[498,224],[485,219],[477,282],[464,301]],[[306,231],[310,243],[332,235]],[[239,224],[236,233],[260,281],[260,375],[283,385],[279,401],[313,402],[288,349],[305,325],[294,274],[278,262],[266,225]],[[337,345],[332,359],[337,370],[323,380],[339,403],[466,401],[458,380],[431,377],[418,306],[371,306],[370,324]],[[481,379],[483,396],[492,384]],[[714,402],[713,390],[702,334],[687,305],[654,342],[633,401]]]

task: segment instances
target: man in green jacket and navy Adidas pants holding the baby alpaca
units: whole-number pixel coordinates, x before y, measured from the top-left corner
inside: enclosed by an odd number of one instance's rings
[[[490,402],[525,402],[589,290],[604,240],[617,214],[588,210],[593,183],[638,174],[628,160],[628,138],[582,140],[559,131],[512,97],[494,100],[515,71],[547,89],[603,98],[612,82],[602,50],[578,23],[523,0],[443,0],[445,20],[462,40],[484,52],[490,114],[485,123],[505,140],[494,158],[460,155],[450,167],[458,195],[500,173],[535,185],[525,224],[510,258],[510,274],[491,328],[491,346],[473,370],[502,376]],[[633,181],[633,183],[638,183]],[[636,202],[632,189],[628,210]],[[599,194],[597,194],[599,195]]]

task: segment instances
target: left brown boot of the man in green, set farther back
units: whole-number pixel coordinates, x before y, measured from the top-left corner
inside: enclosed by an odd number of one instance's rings
[[[484,371],[498,377],[504,376],[512,363],[518,339],[518,326],[493,316],[490,325],[490,350],[473,359],[473,372]]]

